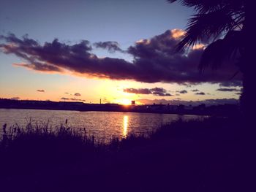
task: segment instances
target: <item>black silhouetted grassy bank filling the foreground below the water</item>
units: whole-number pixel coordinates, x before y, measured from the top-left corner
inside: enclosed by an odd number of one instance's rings
[[[3,191],[237,191],[242,121],[177,120],[108,145],[61,125],[4,126]],[[238,190],[239,191],[239,190]]]

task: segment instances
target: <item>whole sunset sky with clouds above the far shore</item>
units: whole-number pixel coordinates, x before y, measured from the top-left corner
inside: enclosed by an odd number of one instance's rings
[[[173,51],[194,13],[165,0],[2,0],[0,98],[234,101],[233,65],[198,72],[208,42]]]

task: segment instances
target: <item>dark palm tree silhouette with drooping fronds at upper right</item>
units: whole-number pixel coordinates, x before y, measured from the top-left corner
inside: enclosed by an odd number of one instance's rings
[[[199,69],[208,66],[219,68],[227,59],[236,60],[243,74],[241,105],[246,116],[252,115],[253,73],[252,66],[245,61],[245,0],[168,0],[180,1],[182,5],[193,7],[195,15],[189,19],[185,34],[176,50],[184,50],[210,39],[211,43],[203,51]],[[253,110],[253,109],[252,109]]]

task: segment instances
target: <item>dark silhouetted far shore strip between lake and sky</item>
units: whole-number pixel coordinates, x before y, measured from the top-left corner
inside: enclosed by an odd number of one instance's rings
[[[77,111],[113,111],[113,112],[150,112],[187,115],[238,115],[240,107],[237,104],[219,104],[206,106],[151,104],[151,105],[121,105],[121,104],[85,104],[71,101],[31,101],[0,99],[0,108],[35,109],[35,110],[77,110]]]

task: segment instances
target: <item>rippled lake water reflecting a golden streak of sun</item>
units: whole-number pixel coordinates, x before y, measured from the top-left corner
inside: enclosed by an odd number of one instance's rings
[[[113,137],[127,137],[129,134],[147,135],[159,126],[173,120],[203,118],[197,115],[173,115],[138,112],[79,112],[66,110],[16,110],[0,109],[0,126],[15,125],[25,127],[31,120],[32,124],[47,123],[52,128],[64,124],[78,131],[86,129],[86,134],[100,142],[108,142]],[[2,130],[0,131],[2,132]]]

